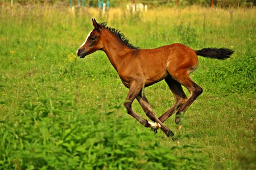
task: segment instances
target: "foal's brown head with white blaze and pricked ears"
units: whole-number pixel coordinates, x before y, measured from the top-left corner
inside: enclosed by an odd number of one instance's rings
[[[84,43],[77,50],[77,56],[84,58],[85,56],[96,52],[103,48],[103,43],[101,40],[101,30],[102,26],[92,19],[94,29],[90,31],[84,41]]]

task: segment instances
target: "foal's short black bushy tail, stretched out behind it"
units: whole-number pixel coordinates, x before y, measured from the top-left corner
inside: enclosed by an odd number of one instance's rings
[[[195,50],[197,56],[203,56],[208,58],[226,59],[229,58],[234,50],[227,48],[203,48],[201,50]]]

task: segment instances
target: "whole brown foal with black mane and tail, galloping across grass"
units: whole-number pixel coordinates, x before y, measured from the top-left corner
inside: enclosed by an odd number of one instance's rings
[[[84,58],[97,50],[103,50],[114,66],[122,83],[129,88],[125,107],[128,114],[136,118],[146,128],[160,128],[167,137],[174,133],[163,124],[176,111],[175,122],[181,128],[180,115],[184,114],[188,107],[203,92],[189,77],[197,67],[197,56],[226,59],[233,54],[233,50],[225,48],[204,48],[193,50],[184,44],[171,44],[155,49],[138,49],[129,44],[125,36],[117,29],[106,27],[106,23],[98,24],[92,19],[94,29],[88,33],[84,43],[77,50],[77,56]],[[175,103],[159,118],[152,111],[146,96],[144,87],[165,80],[174,94]],[[185,95],[181,85],[190,92]],[[131,104],[137,99],[143,111],[151,121],[140,117],[131,109]]]

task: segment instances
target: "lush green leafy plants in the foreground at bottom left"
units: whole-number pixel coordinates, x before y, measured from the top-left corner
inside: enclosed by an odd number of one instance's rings
[[[201,158],[174,155],[176,149],[189,154],[196,148],[167,149],[150,130],[131,126],[130,117],[110,113],[80,113],[70,95],[23,104],[0,129],[1,169],[204,168]]]

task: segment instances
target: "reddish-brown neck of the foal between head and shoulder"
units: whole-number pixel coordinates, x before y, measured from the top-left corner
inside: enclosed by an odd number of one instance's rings
[[[122,62],[122,59],[125,56],[131,54],[132,51],[132,49],[130,49],[127,45],[118,40],[117,37],[112,37],[112,39],[106,40],[103,50],[117,71],[119,63]]]

